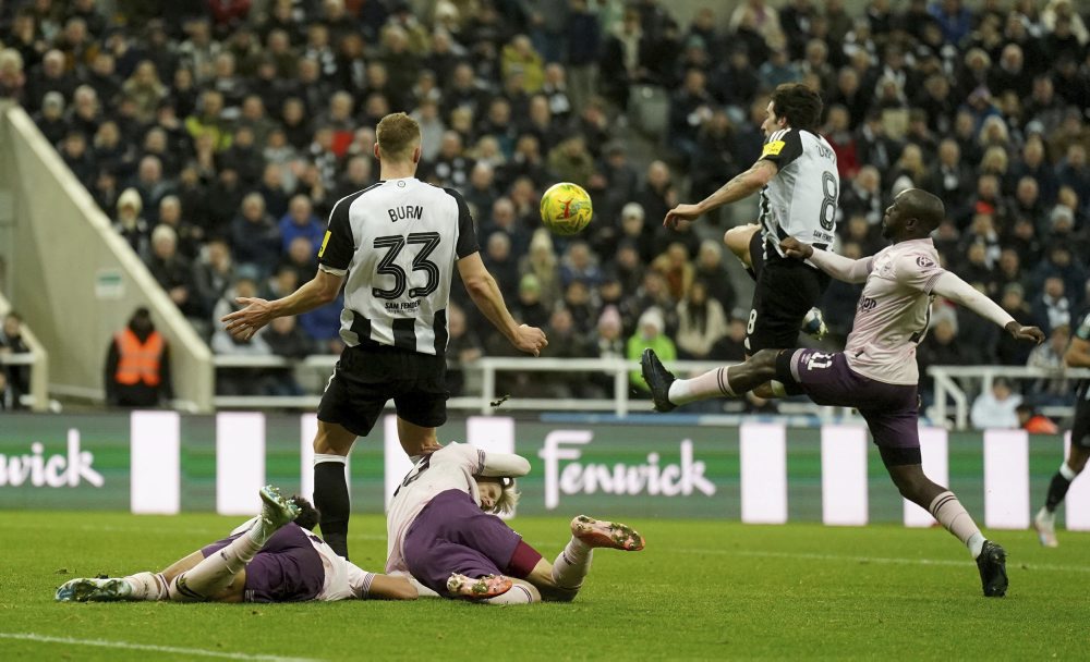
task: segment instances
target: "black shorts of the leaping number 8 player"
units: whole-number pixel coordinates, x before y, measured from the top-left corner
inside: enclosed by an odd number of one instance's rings
[[[818,305],[829,277],[802,260],[780,257],[767,246],[759,230],[750,240],[750,262],[756,285],[753,308],[746,323],[746,350],[786,350],[799,344],[802,318]]]

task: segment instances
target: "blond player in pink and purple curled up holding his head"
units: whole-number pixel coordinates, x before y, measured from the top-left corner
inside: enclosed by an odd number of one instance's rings
[[[489,584],[513,583],[511,590],[485,602],[570,601],[590,569],[594,548],[643,549],[643,538],[630,527],[580,515],[571,520],[571,540],[549,563],[489,514],[514,508],[519,494],[513,478],[528,473],[530,462],[520,455],[461,443],[417,462],[390,502],[386,572],[411,573],[443,597],[467,593],[453,578],[483,577]]]

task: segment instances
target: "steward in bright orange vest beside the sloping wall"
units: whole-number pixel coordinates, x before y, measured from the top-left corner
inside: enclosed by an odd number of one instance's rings
[[[113,335],[105,382],[111,406],[155,407],[172,397],[170,348],[147,308],[137,308],[129,326]]]

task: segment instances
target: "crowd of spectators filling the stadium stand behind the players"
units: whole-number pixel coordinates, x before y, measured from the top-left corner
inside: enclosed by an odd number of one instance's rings
[[[94,0],[0,2],[0,98],[33,115],[218,353],[340,350],[338,304],[245,342],[216,320],[235,296],[313,275],[332,204],[376,179],[376,122],[405,111],[424,131],[419,176],[462,192],[512,312],[548,332],[546,356],[741,359],[749,302],[717,237],[746,220],[674,232],[662,219],[759,158],[766,94],[785,82],[825,101],[839,253],[880,249],[893,196],[925,188],[946,204],[946,263],[1050,334],[1019,345],[940,303],[921,367],[1058,366],[1090,299],[1090,14],[1071,0],[873,0],[859,13],[744,0],[688,25],[661,0],[117,4],[113,16]],[[655,158],[637,159],[645,86],[669,106]],[[594,199],[571,241],[537,219],[556,181]],[[827,292],[834,339],[858,293]],[[452,306],[452,365],[511,352],[473,315]],[[294,388],[262,383],[220,387]],[[520,393],[610,383],[525,379]],[[1066,402],[1069,389],[1050,380],[1027,396]]]

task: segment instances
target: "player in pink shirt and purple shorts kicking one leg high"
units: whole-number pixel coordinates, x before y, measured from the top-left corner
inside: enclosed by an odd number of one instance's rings
[[[738,397],[770,380],[775,380],[780,395],[806,393],[820,405],[855,407],[867,420],[900,493],[927,508],[969,548],[984,594],[1002,597],[1007,589],[1006,552],[984,539],[954,492],[923,473],[916,346],[928,332],[934,295],[966,306],[1018,340],[1040,343],[1044,334],[1037,327],[1021,326],[938,265],[930,235],[944,214],[937,197],[918,188],[905,191],[882,220],[882,236],[893,245],[865,259],[826,253],[794,237],[780,242],[788,257],[809,259],[833,278],[867,283],[844,352],[764,350],[738,366],[675,379],[654,352],[646,351],[643,378],[659,412],[708,397]]]

